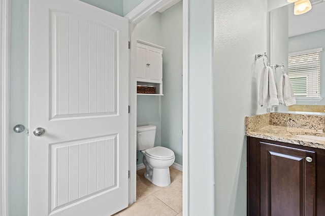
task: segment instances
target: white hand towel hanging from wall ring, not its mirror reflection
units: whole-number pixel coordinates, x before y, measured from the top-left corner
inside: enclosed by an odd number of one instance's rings
[[[263,108],[272,108],[279,105],[273,70],[269,66],[264,67],[262,70],[258,104]]]

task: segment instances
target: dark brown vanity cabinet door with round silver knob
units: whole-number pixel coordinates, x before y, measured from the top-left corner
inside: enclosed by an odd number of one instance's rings
[[[315,215],[315,152],[260,144],[261,215]]]

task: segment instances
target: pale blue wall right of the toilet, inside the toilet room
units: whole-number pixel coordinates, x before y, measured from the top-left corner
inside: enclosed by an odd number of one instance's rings
[[[161,97],[161,145],[175,153],[175,162],[183,164],[183,6],[182,2],[161,14],[164,96]]]

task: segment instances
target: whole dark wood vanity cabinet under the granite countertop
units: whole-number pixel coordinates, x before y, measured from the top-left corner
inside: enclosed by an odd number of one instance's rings
[[[325,215],[325,149],[247,137],[247,215]]]

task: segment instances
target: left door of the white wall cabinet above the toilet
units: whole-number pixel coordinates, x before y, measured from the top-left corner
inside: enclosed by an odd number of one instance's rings
[[[147,79],[147,47],[137,45],[137,80]]]

